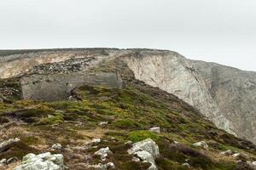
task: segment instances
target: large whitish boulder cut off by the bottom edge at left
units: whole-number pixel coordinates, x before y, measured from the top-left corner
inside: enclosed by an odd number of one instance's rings
[[[64,170],[63,156],[49,152],[39,155],[28,154],[14,170]]]

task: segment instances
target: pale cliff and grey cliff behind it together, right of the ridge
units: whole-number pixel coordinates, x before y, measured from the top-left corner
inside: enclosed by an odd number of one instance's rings
[[[166,51],[126,57],[137,79],[177,95],[218,127],[256,143],[256,73]]]

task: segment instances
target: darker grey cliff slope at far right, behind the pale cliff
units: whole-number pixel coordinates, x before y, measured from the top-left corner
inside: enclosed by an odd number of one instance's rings
[[[238,135],[255,142],[256,73],[203,61],[190,62]]]

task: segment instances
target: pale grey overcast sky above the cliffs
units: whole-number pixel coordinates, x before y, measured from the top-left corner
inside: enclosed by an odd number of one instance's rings
[[[255,0],[0,0],[0,48],[161,48],[256,71]]]

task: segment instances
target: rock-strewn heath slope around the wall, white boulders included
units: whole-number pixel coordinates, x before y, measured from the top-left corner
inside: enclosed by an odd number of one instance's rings
[[[52,65],[38,65],[31,74],[60,68]],[[125,86],[84,85],[66,100],[45,102],[22,99],[20,77],[1,80],[0,169],[256,169],[253,143],[138,81],[122,60],[88,71],[118,71]]]

